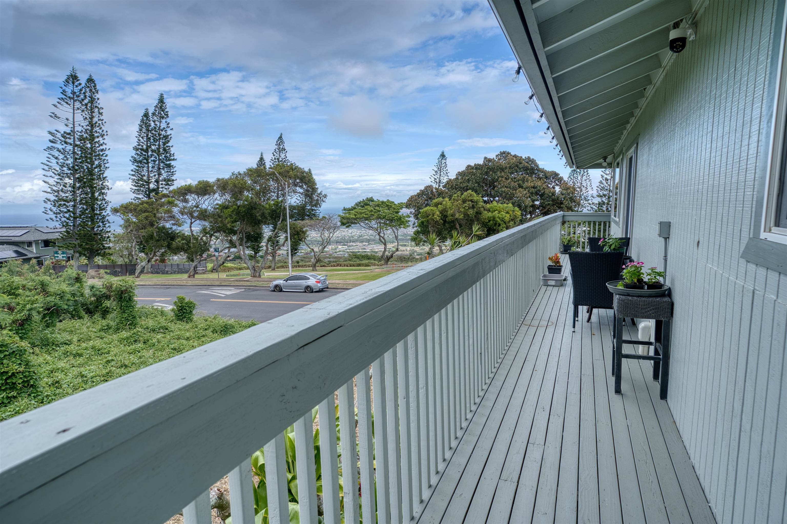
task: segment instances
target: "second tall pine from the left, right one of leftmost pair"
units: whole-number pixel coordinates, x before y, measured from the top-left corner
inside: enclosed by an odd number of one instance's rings
[[[88,76],[83,88],[82,129],[79,134],[79,249],[87,254],[87,264],[109,246],[109,160],[106,146],[104,109],[98,99],[98,85]]]

